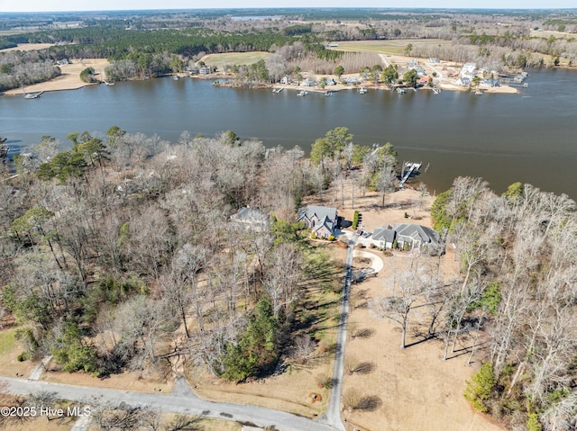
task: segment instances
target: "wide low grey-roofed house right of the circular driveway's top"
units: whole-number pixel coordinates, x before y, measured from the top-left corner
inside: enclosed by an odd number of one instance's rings
[[[432,255],[444,252],[435,229],[412,223],[397,223],[393,227],[375,228],[372,243],[381,248],[395,246],[405,250],[417,248]]]

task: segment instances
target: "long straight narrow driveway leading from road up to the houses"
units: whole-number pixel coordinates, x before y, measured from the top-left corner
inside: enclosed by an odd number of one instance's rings
[[[341,311],[339,328],[336,334],[336,348],[334,352],[333,387],[328,408],[321,421],[330,425],[334,429],[344,431],[341,420],[341,395],[343,392],[343,372],[344,372],[344,346],[346,343],[346,325],[349,319],[349,299],[351,292],[351,279],[353,278],[353,251],[357,236],[349,240],[349,248],[346,251],[344,263],[343,296],[341,297]]]

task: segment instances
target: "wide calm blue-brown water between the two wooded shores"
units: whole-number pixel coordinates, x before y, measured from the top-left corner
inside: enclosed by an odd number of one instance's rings
[[[316,138],[348,127],[359,144],[391,142],[400,161],[429,165],[431,192],[458,175],[482,176],[497,192],[516,181],[577,199],[577,72],[530,71],[519,94],[348,90],[330,97],[296,91],[216,88],[210,81],[160,78],[42,94],[0,97],[0,134],[14,150],[42,135],[60,139],[117,125],[177,141],[182,131],[234,130],[267,146],[310,150]]]

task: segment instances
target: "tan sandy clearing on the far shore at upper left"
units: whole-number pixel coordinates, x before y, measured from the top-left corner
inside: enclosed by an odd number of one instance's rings
[[[48,92],[48,91],[60,91],[60,90],[77,90],[87,85],[86,82],[80,79],[80,72],[82,72],[87,67],[94,67],[96,76],[100,77],[102,80],[105,79],[105,67],[108,66],[108,60],[105,58],[85,58],[82,61],[73,60],[68,65],[60,66],[62,75],[40,84],[27,85],[26,93],[37,93],[37,92]],[[6,95],[22,95],[23,91],[21,88],[16,88],[14,90],[8,90],[5,92]]]

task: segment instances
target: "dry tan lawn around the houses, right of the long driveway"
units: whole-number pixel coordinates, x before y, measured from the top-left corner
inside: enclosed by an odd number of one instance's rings
[[[381,207],[380,193],[368,192],[362,197],[355,197],[354,208],[350,190],[345,187],[344,202],[341,193],[329,189],[324,194],[324,201],[310,197],[304,204],[335,205],[339,215],[353,220],[353,211],[362,213],[364,229],[372,230],[376,226],[399,222],[415,222],[432,226],[429,215],[433,196],[422,196],[421,193],[406,187],[395,193],[388,193],[385,207]],[[408,215],[411,219],[407,219]],[[362,283],[353,284],[352,311],[349,332],[369,334],[365,337],[351,337],[347,341],[346,355],[356,362],[369,362],[373,367],[371,373],[345,373],[343,393],[353,389],[363,396],[376,396],[380,405],[374,411],[353,411],[343,409],[345,427],[352,431],[503,431],[490,417],[474,411],[463,398],[465,382],[478,370],[481,351],[475,355],[473,364],[467,365],[469,357],[469,340],[463,340],[457,346],[451,359],[443,361],[444,345],[440,341],[430,340],[422,343],[422,337],[415,335],[415,330],[426,325],[426,313],[414,313],[409,317],[407,344],[401,350],[400,331],[396,324],[389,320],[371,317],[367,301],[384,294],[395,271],[402,271],[411,265],[410,255],[396,252],[394,256],[382,256],[384,267],[377,277],[367,278]],[[420,265],[436,265],[438,257],[421,256]],[[456,274],[458,262],[452,250],[447,250],[441,257],[441,270],[445,277]],[[367,331],[363,331],[368,329]],[[415,343],[413,346],[411,344]],[[418,343],[418,344],[417,344]],[[349,359],[351,360],[351,359]]]

